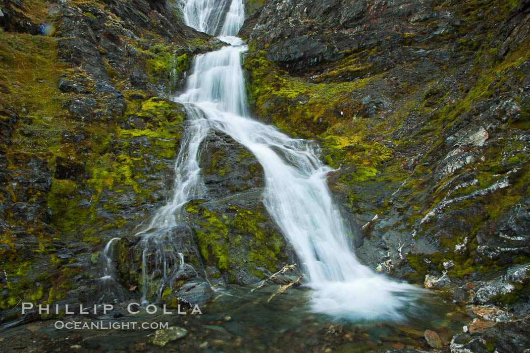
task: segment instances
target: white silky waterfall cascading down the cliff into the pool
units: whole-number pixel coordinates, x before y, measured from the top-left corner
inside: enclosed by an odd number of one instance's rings
[[[213,3],[185,2],[186,24],[215,33],[213,23],[222,16],[212,10]],[[187,106],[194,132],[182,146],[173,201],[152,225],[175,222],[182,205],[200,195],[198,146],[211,126],[251,150],[263,166],[264,204],[304,265],[308,285],[314,289],[313,311],[352,320],[403,319],[418,289],[378,275],[355,258],[327,186],[331,169],[317,157],[314,144],[291,139],[248,117],[241,68],[241,54],[247,48],[233,37],[243,23],[243,2],[233,0],[225,18],[221,39],[232,45],[196,57],[185,92],[175,98]]]

